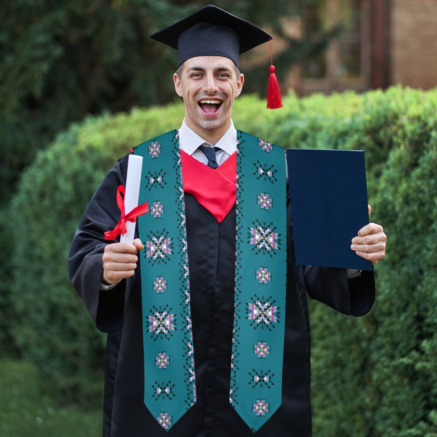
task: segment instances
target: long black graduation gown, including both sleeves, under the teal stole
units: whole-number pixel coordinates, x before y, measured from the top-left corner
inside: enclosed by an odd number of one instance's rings
[[[100,291],[104,232],[120,218],[115,201],[125,185],[127,155],[104,178],[88,205],[69,253],[70,279],[96,326],[108,333],[104,437],[250,437],[253,432],[229,404],[234,314],[235,205],[217,220],[185,194],[191,316],[197,402],[169,431],[144,405],[142,305],[139,263],[135,276]],[[375,300],[373,272],[348,280],[346,269],[294,264],[287,201],[287,294],[282,404],[256,437],[311,436],[310,333],[305,289],[311,298],[353,316]],[[141,253],[139,256],[144,256]]]

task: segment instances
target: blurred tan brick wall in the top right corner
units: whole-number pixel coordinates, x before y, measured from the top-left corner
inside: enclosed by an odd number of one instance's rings
[[[437,0],[392,0],[390,82],[437,87]]]

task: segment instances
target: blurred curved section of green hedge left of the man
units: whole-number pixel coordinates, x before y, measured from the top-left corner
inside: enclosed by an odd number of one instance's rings
[[[87,118],[58,136],[26,171],[13,200],[12,334],[47,388],[62,399],[101,402],[105,336],[69,284],[67,255],[92,194],[115,157],[180,118],[181,106]],[[165,116],[163,116],[165,114]]]

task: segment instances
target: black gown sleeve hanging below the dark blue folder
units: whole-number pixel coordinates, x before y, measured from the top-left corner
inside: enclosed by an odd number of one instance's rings
[[[375,276],[362,271],[361,276],[347,279],[347,270],[334,267],[298,266],[295,264],[290,194],[287,184],[288,262],[298,286],[306,289],[310,298],[350,316],[364,316],[375,302]],[[351,236],[352,239],[353,236]]]

